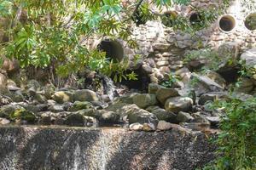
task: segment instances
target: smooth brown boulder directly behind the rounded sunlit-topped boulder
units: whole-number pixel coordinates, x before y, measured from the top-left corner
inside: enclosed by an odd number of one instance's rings
[[[156,92],[156,98],[160,101],[162,105],[165,105],[166,99],[171,97],[179,96],[177,89],[175,88],[164,88],[161,87]]]

